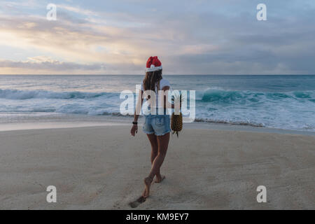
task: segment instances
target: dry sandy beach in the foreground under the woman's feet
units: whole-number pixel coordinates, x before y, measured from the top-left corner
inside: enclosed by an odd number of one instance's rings
[[[129,128],[0,132],[0,209],[132,209],[151,148]],[[171,137],[167,178],[134,209],[315,209],[314,145],[314,136],[183,130]],[[57,203],[46,202],[47,186]]]

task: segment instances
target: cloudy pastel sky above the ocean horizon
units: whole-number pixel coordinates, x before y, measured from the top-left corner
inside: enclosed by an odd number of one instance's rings
[[[315,74],[314,25],[314,0],[1,0],[0,74]]]

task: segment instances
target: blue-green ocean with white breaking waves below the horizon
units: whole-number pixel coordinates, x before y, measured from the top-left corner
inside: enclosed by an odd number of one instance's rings
[[[315,131],[315,76],[163,76],[196,91],[195,122]],[[121,116],[120,92],[144,76],[0,76],[0,123]]]

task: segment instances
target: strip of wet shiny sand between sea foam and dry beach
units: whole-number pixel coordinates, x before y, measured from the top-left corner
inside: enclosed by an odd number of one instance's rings
[[[21,120],[21,122],[0,123],[0,132],[18,131],[18,130],[45,130],[59,128],[75,127],[104,127],[104,126],[130,126],[132,117],[124,116],[82,116],[82,115],[61,115],[52,118],[39,117]],[[144,118],[139,117],[139,125],[143,124]],[[272,127],[253,127],[251,125],[211,123],[211,122],[193,122],[184,123],[183,129],[197,130],[230,130],[245,132],[261,132],[276,134],[299,134],[315,136],[315,132],[306,130],[283,130]],[[140,130],[141,131],[141,130]]]

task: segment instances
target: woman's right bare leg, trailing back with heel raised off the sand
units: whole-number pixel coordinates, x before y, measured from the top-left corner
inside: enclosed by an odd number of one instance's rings
[[[142,196],[145,198],[148,197],[150,194],[150,187],[151,187],[151,183],[153,181],[154,176],[160,174],[160,168],[165,159],[165,155],[167,154],[167,148],[169,146],[169,133],[163,136],[158,136],[157,140],[158,140],[158,155],[153,160],[150,174],[148,175],[148,177],[146,177],[146,179],[144,179],[144,184],[146,188]],[[161,178],[160,181],[162,181],[162,176],[160,176],[160,178]]]

